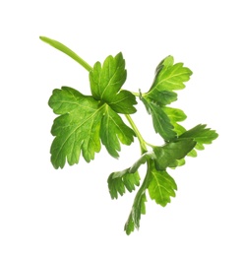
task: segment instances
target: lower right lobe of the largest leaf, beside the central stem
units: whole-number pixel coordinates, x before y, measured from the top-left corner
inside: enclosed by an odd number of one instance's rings
[[[123,122],[115,111],[106,105],[100,126],[100,138],[108,153],[112,157],[118,158],[117,152],[121,150],[120,142],[131,145],[134,136],[136,136],[134,131]]]

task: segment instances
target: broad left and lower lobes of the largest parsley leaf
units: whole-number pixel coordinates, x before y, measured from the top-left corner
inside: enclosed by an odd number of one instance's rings
[[[92,96],[84,96],[75,89],[54,90],[49,105],[56,114],[51,133],[51,161],[55,168],[78,163],[81,151],[88,162],[100,151],[100,139],[108,153],[118,158],[120,142],[130,145],[135,136],[121,117],[107,104],[100,104]],[[118,140],[119,139],[119,140]]]

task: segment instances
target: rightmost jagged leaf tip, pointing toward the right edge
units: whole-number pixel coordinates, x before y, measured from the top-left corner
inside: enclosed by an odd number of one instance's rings
[[[204,150],[204,144],[212,144],[213,140],[218,137],[218,134],[211,128],[206,128],[206,124],[199,124],[194,128],[184,132],[179,138],[192,138],[197,142],[196,149]]]

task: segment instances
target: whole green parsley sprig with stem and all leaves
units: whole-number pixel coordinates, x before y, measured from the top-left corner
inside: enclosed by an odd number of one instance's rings
[[[49,106],[59,115],[51,129],[55,137],[50,149],[53,166],[63,168],[66,161],[70,165],[78,163],[81,154],[90,162],[101,145],[111,157],[118,158],[121,143],[131,145],[135,138],[139,140],[141,158],[124,170],[112,172],[107,180],[112,199],[139,187],[125,224],[126,233],[130,234],[140,227],[148,195],[162,207],[175,197],[177,186],[168,169],[185,164],[186,157],[197,157],[197,151],[204,150],[204,145],[218,136],[203,124],[187,130],[179,124],[186,114],[168,106],[177,100],[175,91],[185,88],[192,71],[168,56],[158,64],[150,90],[132,93],[122,89],[127,77],[122,53],[108,56],[102,64],[96,62],[91,67],[64,44],[44,36],[40,39],[80,63],[89,72],[91,83],[91,96],[69,87],[55,89],[50,96]],[[146,142],[134,123],[131,115],[137,111],[137,99],[142,100],[152,116],[154,132],[161,137],[160,145]],[[123,118],[127,118],[130,127]],[[142,164],[147,164],[147,172],[140,185]]]

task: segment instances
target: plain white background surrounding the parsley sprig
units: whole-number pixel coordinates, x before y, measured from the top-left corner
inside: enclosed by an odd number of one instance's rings
[[[1,1],[0,255],[243,255],[241,1]],[[103,149],[91,163],[52,167],[47,105],[69,86],[89,94],[88,73],[39,40],[68,45],[91,65],[123,52],[124,88],[149,90],[158,62],[171,54],[194,72],[174,104],[187,128],[206,123],[219,137],[170,173],[178,191],[161,208],[149,200],[141,228],[123,231],[135,193],[111,200],[110,172],[120,160]],[[158,143],[138,104],[134,119]],[[143,175],[144,169],[141,169]]]

